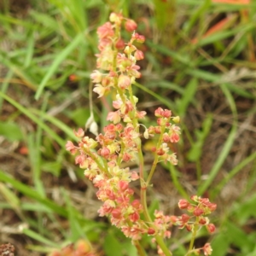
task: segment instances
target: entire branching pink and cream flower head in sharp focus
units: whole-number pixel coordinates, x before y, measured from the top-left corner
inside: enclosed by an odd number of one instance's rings
[[[168,145],[179,141],[179,118],[172,116],[169,109],[157,108],[154,112],[157,118],[155,126],[147,128],[139,123],[146,112],[137,110],[138,98],[132,93],[132,84],[141,77],[137,61],[143,59],[143,52],[135,44],[142,44],[145,38],[134,32],[137,29],[135,21],[114,13],[109,20],[97,29],[100,53],[96,55],[97,69],[91,73],[90,78],[95,84],[93,91],[98,97],[107,95],[110,90],[115,93],[114,111],[107,116],[110,124],[103,128],[96,139],[85,136],[84,130],[79,128],[74,131],[76,137],[79,137],[79,145],[75,146],[69,141],[66,148],[71,154],[77,154],[76,164],[84,169],[84,176],[98,189],[97,198],[103,202],[99,215],[110,217],[111,223],[132,241],[140,240],[143,234],[154,236],[157,242],[160,238],[170,237],[172,224],[189,231],[205,225],[212,232],[214,226],[209,224],[205,215],[214,211],[215,205],[200,197],[192,198],[195,204],[179,201],[179,207],[187,209],[190,216],[165,216],[162,212],[155,211],[152,220],[148,214],[145,191],[155,166],[160,161],[177,165],[176,154],[172,153]],[[127,44],[121,37],[123,25],[126,31],[132,32]],[[143,129],[143,135],[140,129]],[[158,140],[152,148],[154,162],[147,180],[144,179],[142,136],[145,139],[157,136]],[[122,163],[130,161],[138,162],[139,173],[122,167]],[[134,198],[134,190],[130,186],[131,181],[136,180],[141,183],[140,200]],[[144,218],[141,218],[142,213]],[[192,220],[193,217],[195,221]],[[163,245],[160,245],[158,253],[172,255]]]

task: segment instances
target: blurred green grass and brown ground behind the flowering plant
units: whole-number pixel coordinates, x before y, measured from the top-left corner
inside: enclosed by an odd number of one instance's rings
[[[2,0],[0,244],[14,244],[16,255],[45,255],[83,239],[98,255],[137,255],[97,217],[96,190],[64,148],[90,115],[96,28],[119,10],[147,38],[135,89],[145,125],[157,107],[181,117],[179,164],[159,166],[151,212],[179,214],[180,198],[207,196],[218,203],[211,218],[218,229],[211,237],[202,230],[196,246],[211,241],[213,256],[255,256],[256,3],[249,0]],[[103,127],[112,97],[93,98]],[[143,144],[150,166],[151,143]],[[186,230],[174,229],[168,243],[183,256],[188,241]],[[155,255],[149,238],[143,246]]]

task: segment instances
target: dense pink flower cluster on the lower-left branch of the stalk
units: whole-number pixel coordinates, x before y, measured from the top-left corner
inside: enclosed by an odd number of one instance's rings
[[[140,218],[143,207],[133,199],[134,191],[129,183],[139,178],[137,172],[121,168],[120,163],[132,160],[137,151],[138,137],[131,125],[107,125],[96,140],[84,137],[84,131],[75,134],[80,137],[79,147],[67,142],[67,150],[72,154],[79,153],[75,162],[84,170],[98,189],[96,195],[103,202],[99,209],[100,216],[110,216],[111,223],[119,227],[125,236],[133,240],[140,239],[148,232],[148,226]],[[98,150],[95,148],[99,146]]]

